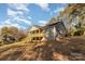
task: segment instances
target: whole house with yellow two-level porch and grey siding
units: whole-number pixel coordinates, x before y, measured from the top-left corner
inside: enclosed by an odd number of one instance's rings
[[[51,41],[56,40],[56,38],[65,37],[67,34],[67,29],[63,23],[56,22],[56,20],[52,20],[55,23],[46,24],[45,26],[32,26],[29,31],[29,40],[30,41],[41,41],[43,38]],[[51,21],[51,22],[52,22]]]

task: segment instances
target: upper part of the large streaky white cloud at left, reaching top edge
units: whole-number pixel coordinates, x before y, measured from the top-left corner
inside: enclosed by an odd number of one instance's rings
[[[16,14],[19,14],[19,15],[28,14],[29,9],[27,7],[28,4],[11,3],[9,4],[8,15],[14,16]]]

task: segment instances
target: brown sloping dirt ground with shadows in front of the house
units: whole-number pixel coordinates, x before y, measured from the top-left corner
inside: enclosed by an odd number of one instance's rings
[[[85,61],[85,38],[3,46],[0,47],[0,61]]]

